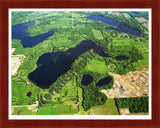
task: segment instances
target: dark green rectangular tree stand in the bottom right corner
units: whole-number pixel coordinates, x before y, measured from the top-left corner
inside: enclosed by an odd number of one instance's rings
[[[118,108],[129,108],[131,113],[149,111],[148,97],[115,98],[115,102]]]

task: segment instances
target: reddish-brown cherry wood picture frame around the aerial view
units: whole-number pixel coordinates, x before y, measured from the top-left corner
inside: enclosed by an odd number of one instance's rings
[[[152,9],[151,120],[9,120],[9,8],[150,8]],[[160,127],[159,0],[0,0],[0,128],[159,128]]]

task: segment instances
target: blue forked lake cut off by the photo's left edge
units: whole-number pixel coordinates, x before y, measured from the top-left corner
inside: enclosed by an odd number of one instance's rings
[[[26,22],[12,26],[12,39],[19,39],[21,40],[21,44],[24,48],[31,48],[46,40],[48,37],[52,36],[55,33],[55,31],[48,31],[35,37],[30,37],[27,29],[29,26],[34,24],[35,22]]]

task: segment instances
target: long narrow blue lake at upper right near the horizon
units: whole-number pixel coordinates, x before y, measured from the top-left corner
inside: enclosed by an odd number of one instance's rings
[[[121,25],[121,27],[118,27],[120,25],[120,22],[118,22],[118,21],[116,21],[114,19],[111,19],[109,17],[104,17],[102,15],[91,15],[91,16],[89,16],[87,18],[88,19],[92,19],[92,20],[102,21],[102,22],[104,22],[106,24],[116,26],[117,30],[120,31],[120,32],[123,32],[123,33],[132,34],[132,35],[136,35],[136,36],[140,36],[141,35],[141,32],[139,30],[130,28],[127,25],[125,25],[125,26]],[[114,27],[107,27],[106,29],[116,30]]]

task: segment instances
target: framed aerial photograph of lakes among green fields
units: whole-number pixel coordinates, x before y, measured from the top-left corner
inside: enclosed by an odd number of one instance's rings
[[[10,11],[10,114],[149,115],[149,11]]]

